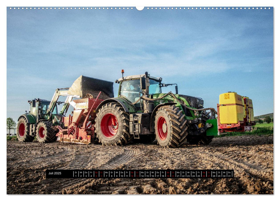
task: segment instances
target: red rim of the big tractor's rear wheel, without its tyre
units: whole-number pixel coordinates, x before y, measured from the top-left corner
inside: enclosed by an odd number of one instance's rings
[[[115,115],[108,113],[101,119],[101,132],[107,138],[112,138],[119,128],[118,119]]]

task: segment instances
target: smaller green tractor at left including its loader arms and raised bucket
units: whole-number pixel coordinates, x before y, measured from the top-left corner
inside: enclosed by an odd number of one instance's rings
[[[114,96],[113,82],[80,76],[70,88],[58,88],[51,101],[40,98],[29,100],[29,112],[26,111],[18,118],[18,141],[32,142],[35,136],[40,143],[55,141],[58,127],[64,126],[61,120],[65,117],[72,99],[95,94],[95,90],[100,90],[101,87],[108,94],[107,98]],[[58,101],[60,96],[66,97],[64,102]],[[57,105],[62,103],[62,109],[58,112]]]

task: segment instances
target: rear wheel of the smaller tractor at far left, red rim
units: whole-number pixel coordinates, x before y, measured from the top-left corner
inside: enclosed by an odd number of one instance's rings
[[[32,142],[35,136],[31,136],[29,132],[29,123],[24,117],[18,120],[16,136],[20,142]]]

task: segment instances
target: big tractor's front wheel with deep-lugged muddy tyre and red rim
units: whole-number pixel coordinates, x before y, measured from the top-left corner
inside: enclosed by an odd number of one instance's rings
[[[160,107],[155,116],[155,135],[161,147],[180,147],[187,142],[187,120],[175,105]]]

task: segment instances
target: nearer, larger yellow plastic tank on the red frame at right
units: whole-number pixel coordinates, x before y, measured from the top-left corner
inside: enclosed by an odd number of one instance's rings
[[[246,113],[243,96],[238,95],[236,92],[220,94],[219,105],[221,124],[244,121]]]

